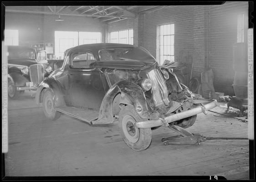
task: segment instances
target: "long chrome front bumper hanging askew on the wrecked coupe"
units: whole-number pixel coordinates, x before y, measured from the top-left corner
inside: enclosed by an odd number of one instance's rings
[[[218,104],[218,102],[216,100],[210,102],[209,104],[205,104],[202,106],[197,106],[193,109],[187,110],[187,111],[183,111],[183,112],[179,112],[177,114],[173,114],[173,115],[169,115],[166,116],[164,118],[159,118],[156,120],[149,120],[149,121],[140,121],[140,122],[136,122],[135,126],[137,126],[138,128],[152,128],[152,127],[156,127],[156,126],[161,126],[161,125],[166,125],[168,126],[169,123],[172,123],[174,121],[178,121],[190,116],[194,116],[196,114],[200,114],[201,112],[204,112],[205,114],[207,114],[206,111],[213,109],[214,107],[216,107]]]

